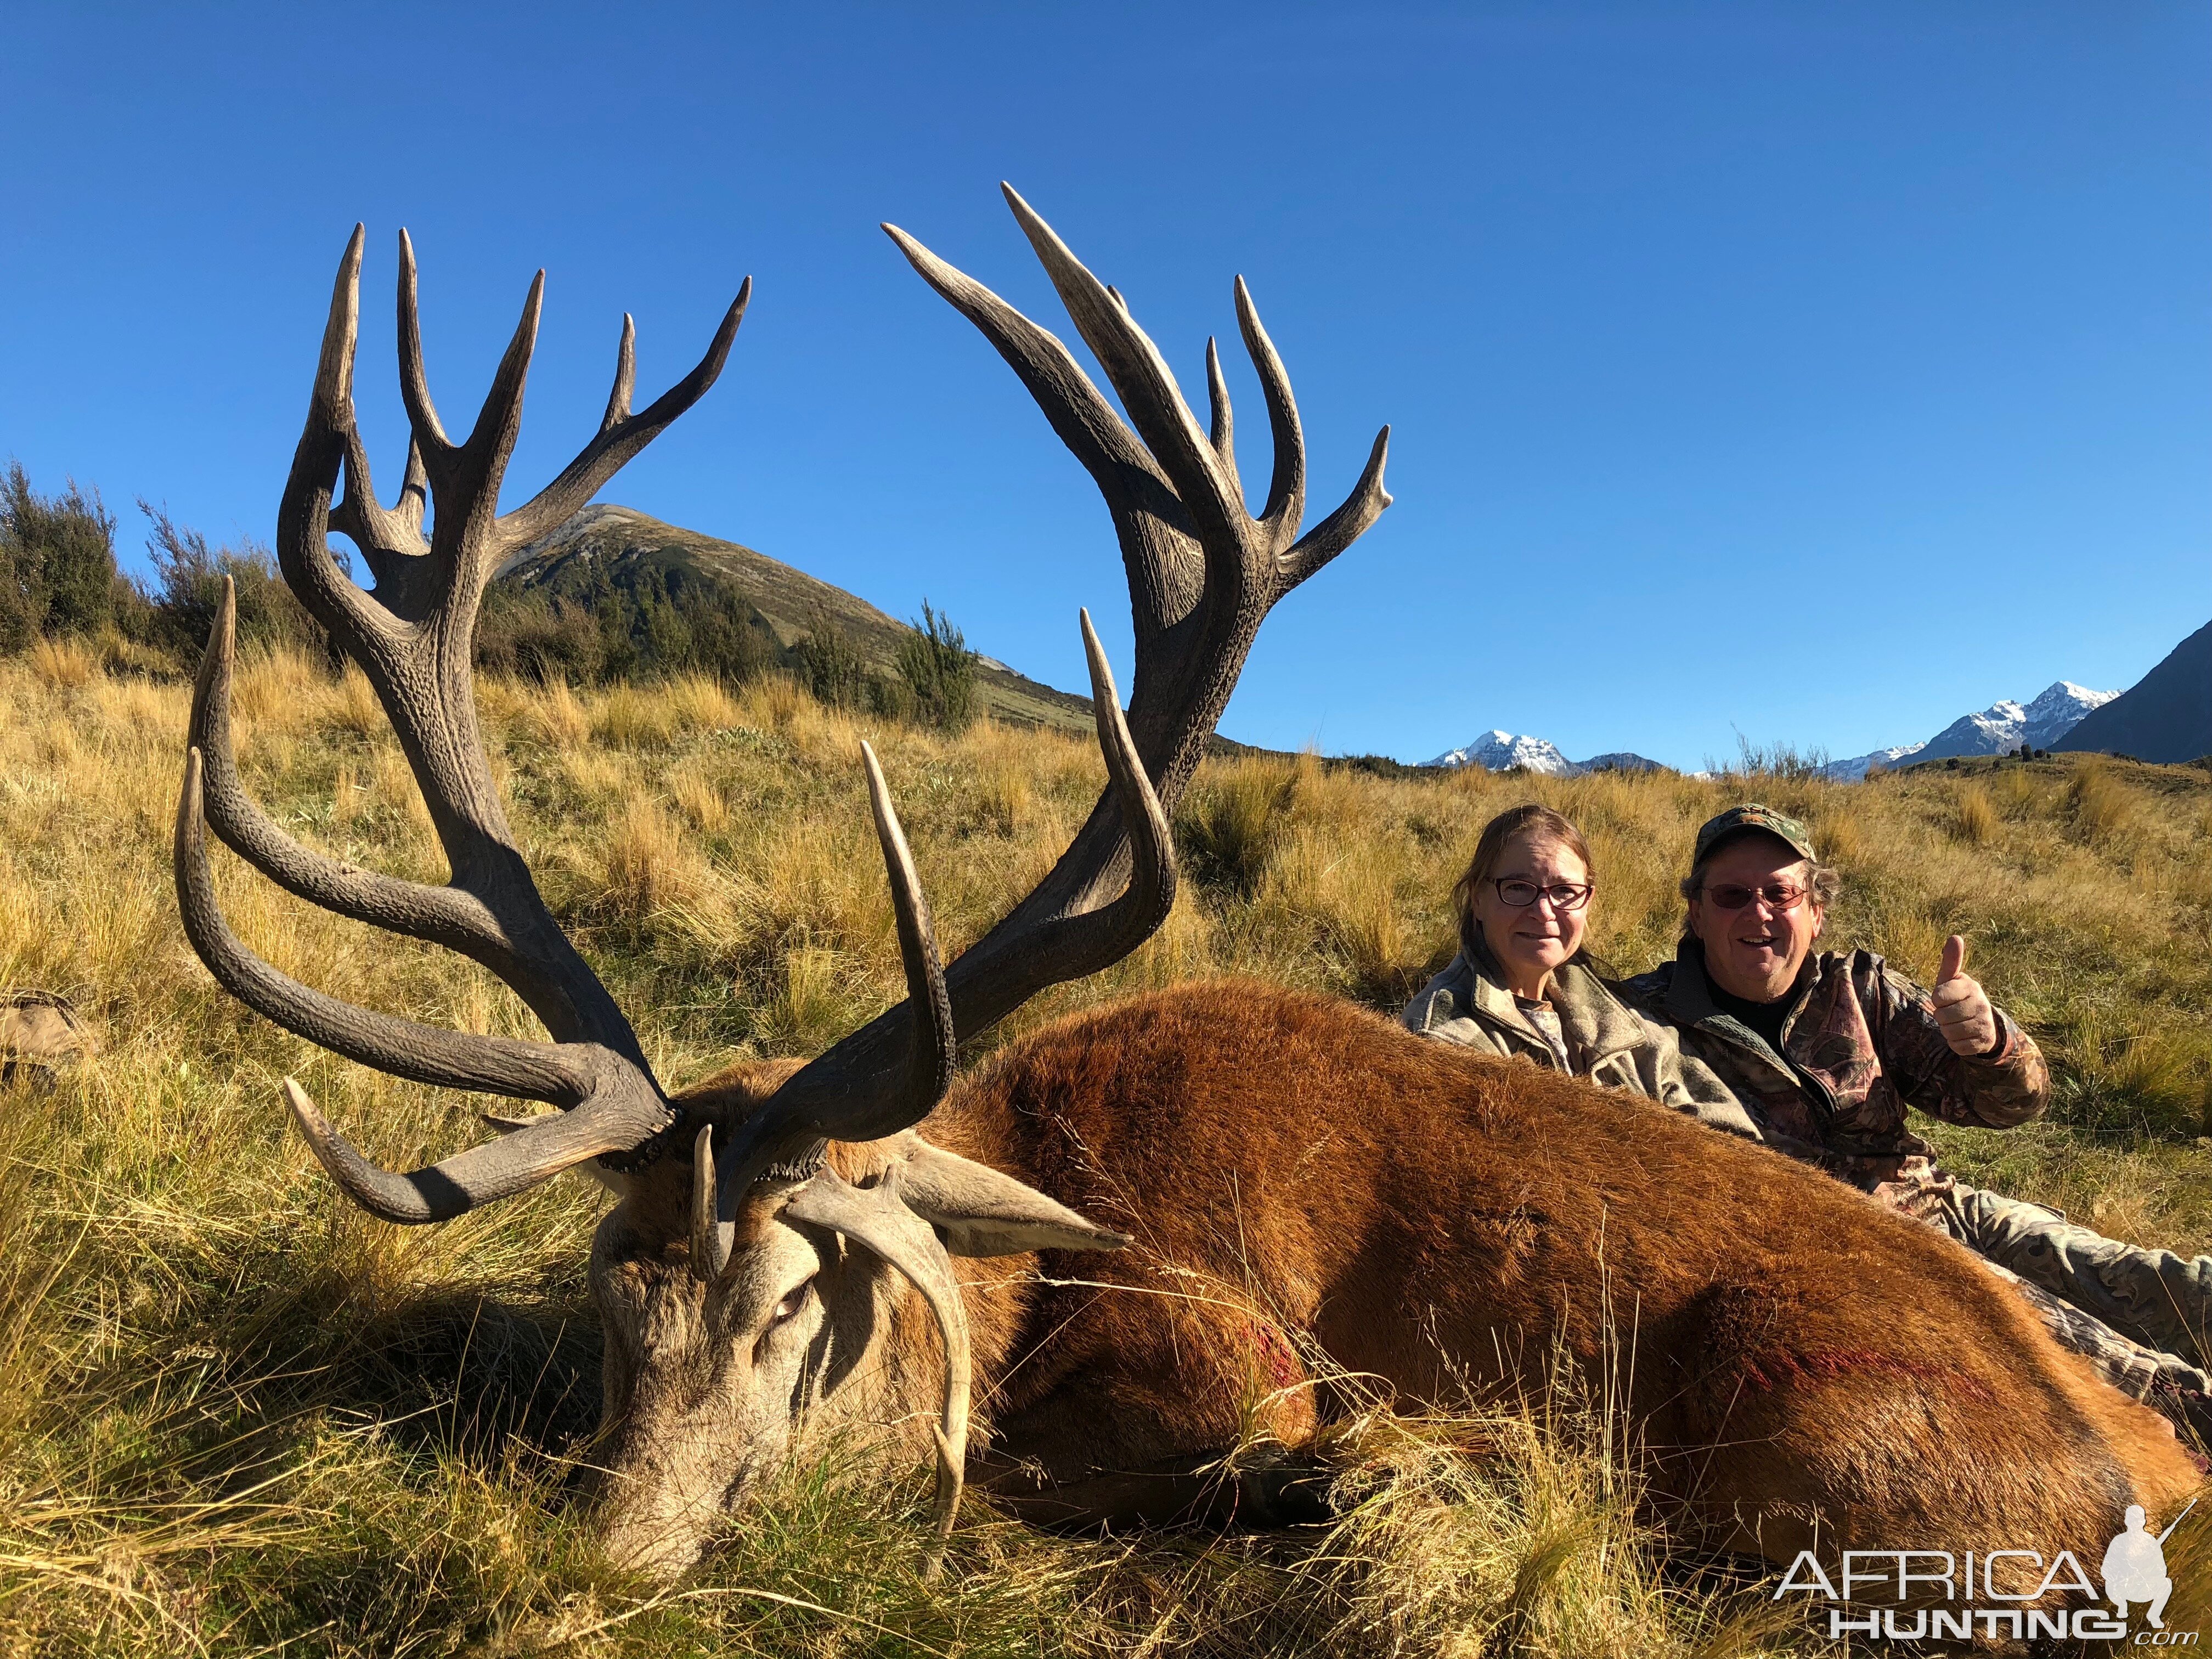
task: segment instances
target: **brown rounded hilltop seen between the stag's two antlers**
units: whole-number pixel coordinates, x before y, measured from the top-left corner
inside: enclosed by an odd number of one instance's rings
[[[898,641],[911,633],[905,622],[885,615],[867,599],[779,564],[765,553],[613,504],[586,507],[551,535],[531,542],[500,566],[498,582],[522,588],[555,586],[564,575],[573,575],[575,562],[602,562],[617,580],[628,566],[653,566],[664,575],[728,588],[752,608],[754,626],[772,635],[781,650],[805,639],[816,617],[823,617],[878,675],[896,672]],[[978,661],[975,679],[984,708],[998,719],[1086,734],[1093,730],[1088,697],[1040,686],[991,657]]]

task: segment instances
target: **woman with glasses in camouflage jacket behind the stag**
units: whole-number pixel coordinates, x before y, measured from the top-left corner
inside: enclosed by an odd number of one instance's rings
[[[1407,1029],[1628,1088],[1759,1139],[1728,1086],[1590,969],[1590,847],[1535,803],[1500,812],[1451,889],[1460,953],[1405,1009]]]

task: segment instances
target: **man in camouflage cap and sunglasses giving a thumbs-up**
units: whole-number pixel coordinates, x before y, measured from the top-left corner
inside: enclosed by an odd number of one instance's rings
[[[1803,823],[1730,807],[1697,832],[1674,960],[1628,980],[1624,1000],[1677,1026],[1772,1146],[1949,1232],[2022,1281],[2108,1380],[2203,1431],[2212,1256],[2137,1250],[1936,1168],[1905,1108],[2026,1124],[2051,1099],[2044,1057],[1966,975],[1964,938],[1944,945],[1933,991],[1871,951],[1814,953],[1836,889]]]

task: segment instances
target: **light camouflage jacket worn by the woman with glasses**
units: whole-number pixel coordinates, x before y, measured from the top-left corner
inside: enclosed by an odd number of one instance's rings
[[[1628,1088],[1661,1106],[1688,1113],[1701,1124],[1730,1135],[1759,1139],[1743,1106],[1703,1064],[1681,1053],[1674,1033],[1621,1006],[1606,982],[1586,967],[1568,962],[1553,975],[1551,1006],[1559,1015],[1559,1035],[1573,1057],[1571,1071],[1606,1088]],[[1451,958],[1400,1015],[1409,1031],[1440,1042],[1500,1055],[1531,1060],[1559,1071],[1559,1057],[1544,1035],[1522,1013],[1513,993],[1498,982],[1495,967],[1484,956],[1478,964],[1467,951]]]

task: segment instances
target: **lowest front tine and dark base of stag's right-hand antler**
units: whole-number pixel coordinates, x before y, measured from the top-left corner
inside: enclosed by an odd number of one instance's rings
[[[728,1259],[737,1212],[772,1166],[812,1166],[827,1139],[874,1141],[929,1117],[953,1079],[953,1009],[938,964],[929,900],[876,752],[863,743],[867,803],[891,883],[907,1000],[816,1055],[730,1137],[717,1157],[717,1243]],[[900,1042],[902,1040],[902,1042]]]

